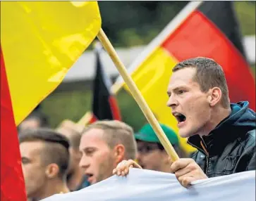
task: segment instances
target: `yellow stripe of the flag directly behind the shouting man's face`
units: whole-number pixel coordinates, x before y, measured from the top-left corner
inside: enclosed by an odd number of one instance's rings
[[[167,108],[167,86],[171,77],[172,68],[178,63],[176,58],[170,55],[161,46],[156,48],[144,62],[133,71],[132,78],[150,109],[161,124],[171,127],[179,138],[181,147],[188,153],[195,148],[186,143],[185,138],[178,135],[177,120],[171,115],[171,109]],[[126,84],[125,89],[129,91]]]

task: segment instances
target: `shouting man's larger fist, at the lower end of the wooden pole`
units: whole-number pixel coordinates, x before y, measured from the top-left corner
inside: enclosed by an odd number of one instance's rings
[[[206,174],[195,160],[181,158],[171,162],[171,173],[175,174],[182,186],[188,187],[192,181],[207,179]]]

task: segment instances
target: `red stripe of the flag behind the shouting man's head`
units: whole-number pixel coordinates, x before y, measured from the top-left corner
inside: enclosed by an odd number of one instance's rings
[[[205,15],[193,12],[162,46],[180,61],[197,56],[216,60],[226,74],[231,101],[248,100],[255,110],[255,80],[248,63]]]

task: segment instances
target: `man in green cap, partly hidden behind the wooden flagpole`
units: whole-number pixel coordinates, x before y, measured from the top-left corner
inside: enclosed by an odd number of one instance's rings
[[[160,124],[160,126],[179,157],[184,157],[185,153],[183,153],[179,147],[176,133],[164,124]],[[138,144],[137,160],[143,169],[170,172],[169,156],[150,124],[145,124],[145,126],[135,134],[135,139]]]

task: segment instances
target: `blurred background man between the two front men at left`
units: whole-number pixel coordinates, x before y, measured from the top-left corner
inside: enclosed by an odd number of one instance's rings
[[[84,174],[84,170],[79,167],[79,162],[82,156],[79,150],[79,145],[84,128],[84,126],[75,124],[70,120],[64,120],[56,129],[60,134],[66,136],[70,142],[69,153],[71,155],[71,162],[68,168],[67,183],[68,188],[71,191],[80,190],[90,186],[90,183],[87,181],[87,177]]]

